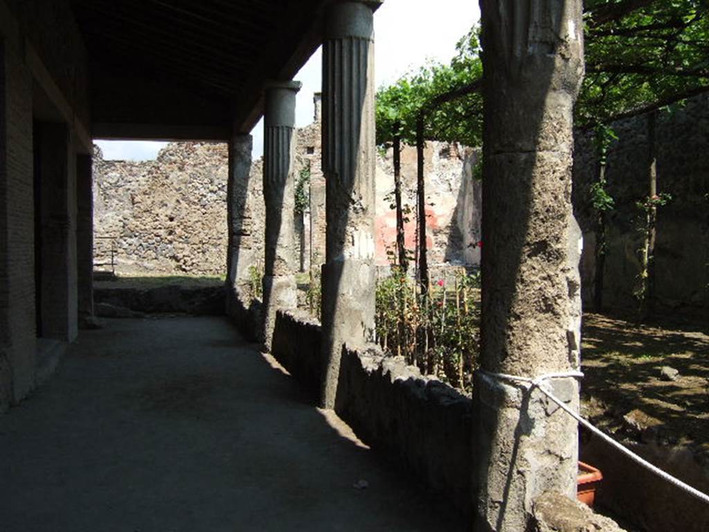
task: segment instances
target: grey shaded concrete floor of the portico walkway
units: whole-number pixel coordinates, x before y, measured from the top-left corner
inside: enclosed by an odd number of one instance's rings
[[[82,331],[0,416],[4,532],[459,529],[225,318]]]

